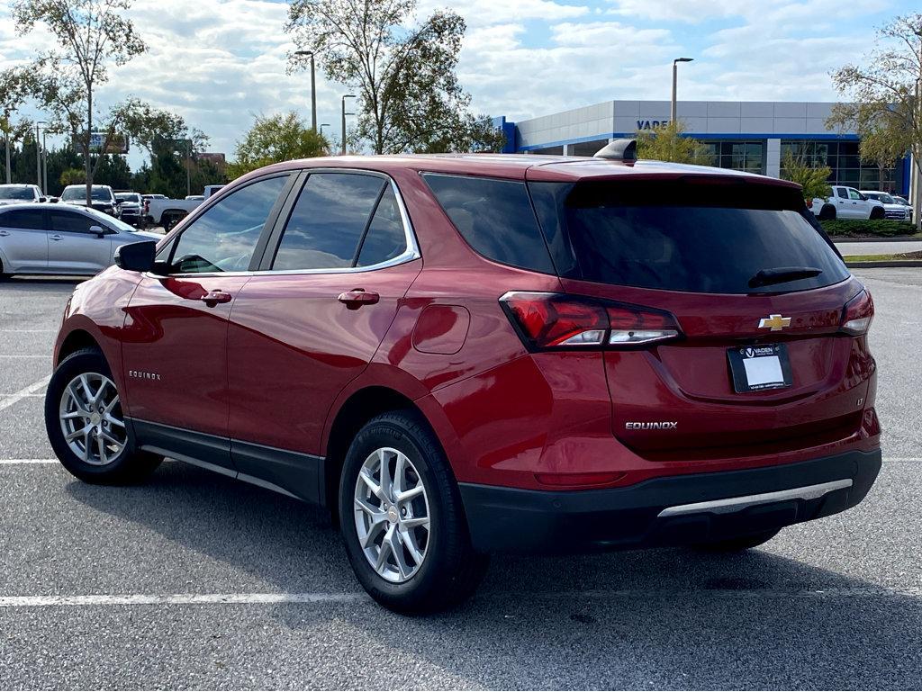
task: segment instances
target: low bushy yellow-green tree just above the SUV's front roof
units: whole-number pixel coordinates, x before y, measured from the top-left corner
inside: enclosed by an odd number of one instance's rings
[[[257,115],[253,127],[237,143],[236,160],[228,164],[228,174],[237,178],[270,163],[325,156],[328,150],[324,135],[307,127],[294,112]]]

